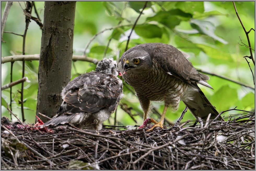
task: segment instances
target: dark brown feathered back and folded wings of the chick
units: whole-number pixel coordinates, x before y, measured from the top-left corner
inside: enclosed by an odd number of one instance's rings
[[[63,90],[66,113],[95,113],[102,108],[115,109],[123,87],[109,74],[90,72],[73,79]]]

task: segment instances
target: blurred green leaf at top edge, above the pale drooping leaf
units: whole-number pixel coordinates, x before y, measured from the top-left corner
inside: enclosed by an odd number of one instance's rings
[[[194,14],[194,12],[203,13],[203,1],[193,1],[193,2],[185,2],[179,1],[176,4],[176,7],[184,12]]]

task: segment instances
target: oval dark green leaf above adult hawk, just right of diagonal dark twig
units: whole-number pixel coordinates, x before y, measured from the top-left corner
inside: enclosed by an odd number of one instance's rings
[[[139,25],[139,26],[136,26],[134,30],[141,37],[146,37],[146,38],[162,37],[161,28],[159,28],[154,24]]]

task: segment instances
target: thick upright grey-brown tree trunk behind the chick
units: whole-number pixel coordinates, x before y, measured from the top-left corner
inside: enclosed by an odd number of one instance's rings
[[[45,1],[44,24],[38,68],[37,111],[56,115],[61,91],[70,81],[76,2]],[[47,119],[42,118],[43,122]]]

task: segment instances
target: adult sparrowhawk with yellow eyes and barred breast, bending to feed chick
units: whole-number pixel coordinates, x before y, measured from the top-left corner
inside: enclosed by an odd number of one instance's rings
[[[163,127],[167,107],[175,111],[182,100],[191,113],[206,120],[219,113],[197,86],[202,84],[212,88],[206,80],[207,75],[197,72],[183,53],[164,43],[146,43],[127,50],[118,62],[120,72],[124,73],[125,82],[131,85],[144,111],[143,121],[147,118],[150,101],[164,101],[164,111],[156,126]],[[219,118],[220,119],[220,118]]]

